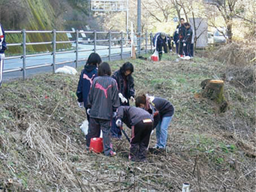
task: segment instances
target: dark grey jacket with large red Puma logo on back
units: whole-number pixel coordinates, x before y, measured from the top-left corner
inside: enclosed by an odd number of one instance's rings
[[[95,78],[88,96],[90,117],[111,120],[113,112],[120,106],[118,93],[114,78],[107,75]]]

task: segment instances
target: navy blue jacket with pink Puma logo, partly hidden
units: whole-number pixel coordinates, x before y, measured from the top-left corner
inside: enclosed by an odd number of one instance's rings
[[[94,65],[85,65],[85,69],[82,69],[76,95],[78,102],[84,102],[84,106],[87,106],[88,95],[93,83],[93,79],[98,76],[98,68]]]

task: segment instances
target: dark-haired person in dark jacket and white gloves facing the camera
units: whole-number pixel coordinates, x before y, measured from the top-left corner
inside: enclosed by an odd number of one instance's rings
[[[129,100],[134,102],[134,78],[131,76],[134,72],[134,66],[130,62],[123,64],[119,70],[114,72],[112,78],[116,80],[119,90],[119,102],[121,106],[129,106]],[[116,127],[116,119],[113,118],[111,125],[112,137],[120,138],[122,132]]]

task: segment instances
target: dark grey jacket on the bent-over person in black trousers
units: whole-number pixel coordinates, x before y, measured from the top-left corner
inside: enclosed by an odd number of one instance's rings
[[[151,114],[146,112],[144,109],[135,106],[119,106],[117,110],[117,119],[121,119],[128,128],[135,126],[142,120],[150,119],[153,123]]]

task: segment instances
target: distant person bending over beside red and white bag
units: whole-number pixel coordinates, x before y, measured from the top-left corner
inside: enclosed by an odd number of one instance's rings
[[[159,53],[160,61],[163,56],[163,51],[168,52],[167,44],[168,44],[168,40],[167,40],[165,32],[157,32],[157,34],[154,35],[153,45],[156,48],[157,52]],[[171,49],[171,47],[169,47],[169,49]]]

